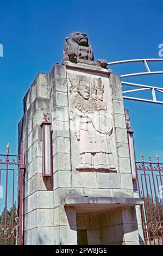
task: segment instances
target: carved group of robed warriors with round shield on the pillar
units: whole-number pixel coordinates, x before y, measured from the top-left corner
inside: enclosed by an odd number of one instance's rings
[[[103,100],[104,89],[101,78],[91,80],[84,76],[76,79],[70,75],[68,77],[71,83],[72,114],[70,116],[79,142],[80,164],[76,169],[115,169],[109,160],[109,154],[111,154],[109,137],[112,126],[106,111],[106,102]],[[78,96],[75,100],[72,96],[74,81],[76,81],[74,87],[78,88]],[[99,99],[98,94],[100,94]]]

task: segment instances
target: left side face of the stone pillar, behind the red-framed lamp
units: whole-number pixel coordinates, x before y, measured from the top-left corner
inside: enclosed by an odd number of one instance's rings
[[[49,112],[48,76],[39,73],[24,97],[24,116],[19,124],[19,143],[23,143],[26,175],[24,176],[24,243],[53,243],[53,182],[42,179],[43,113]]]

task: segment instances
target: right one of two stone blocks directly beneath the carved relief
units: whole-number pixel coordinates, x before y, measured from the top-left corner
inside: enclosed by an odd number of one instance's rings
[[[98,188],[121,188],[119,173],[97,173]]]

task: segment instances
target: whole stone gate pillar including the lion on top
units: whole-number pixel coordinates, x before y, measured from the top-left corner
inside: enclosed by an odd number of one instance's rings
[[[43,113],[52,123],[50,178],[42,177]],[[94,61],[86,34],[70,34],[62,63],[37,76],[24,98],[19,138],[27,165],[25,244],[142,243],[121,79],[106,60]]]

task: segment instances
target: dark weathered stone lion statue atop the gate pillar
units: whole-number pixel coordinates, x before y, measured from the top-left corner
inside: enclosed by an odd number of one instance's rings
[[[101,66],[102,68],[106,68],[107,65],[105,59],[94,61],[92,46],[88,41],[87,34],[81,32],[73,32],[66,37],[63,60]]]

